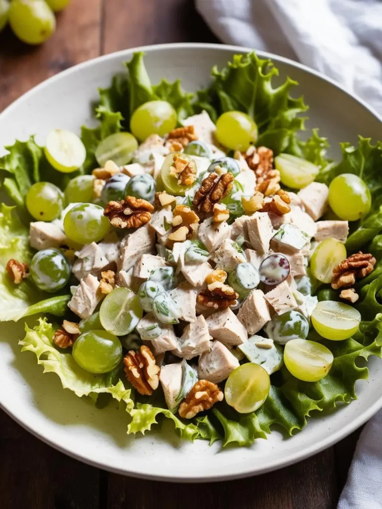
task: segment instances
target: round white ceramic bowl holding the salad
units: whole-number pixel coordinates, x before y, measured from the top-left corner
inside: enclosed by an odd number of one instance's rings
[[[214,44],[172,44],[138,48],[147,52],[145,63],[153,82],[181,78],[194,91],[209,81],[211,67],[222,67],[232,54],[248,48]],[[79,131],[92,119],[91,103],[97,87],[105,87],[133,49],[80,64],[54,76],[18,99],[0,115],[1,146],[37,133],[37,140],[53,128]],[[357,135],[376,139],[381,119],[361,100],[336,83],[302,65],[270,56],[282,78],[299,82],[310,105],[309,127],[319,127],[329,137],[332,155],[339,156],[338,142],[357,143]],[[34,319],[28,319],[33,323]],[[126,435],[126,414],[110,406],[97,410],[61,387],[54,374],[42,373],[33,353],[20,353],[17,345],[23,324],[2,324],[0,338],[0,405],[23,427],[53,447],[92,465],[121,474],[173,481],[207,481],[263,473],[313,455],[358,428],[382,407],[381,361],[369,360],[369,380],[357,382],[359,399],[337,412],[310,419],[291,438],[277,431],[251,447],[228,448],[205,441],[181,442],[171,425],[161,433]],[[167,426],[168,425],[168,426]],[[171,431],[169,431],[171,430]]]

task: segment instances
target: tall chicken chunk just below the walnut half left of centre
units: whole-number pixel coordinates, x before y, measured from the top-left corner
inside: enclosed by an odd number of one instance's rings
[[[118,261],[119,270],[128,271],[131,267],[134,267],[142,254],[151,253],[154,250],[154,246],[155,232],[148,224],[127,235],[121,241],[121,254]]]

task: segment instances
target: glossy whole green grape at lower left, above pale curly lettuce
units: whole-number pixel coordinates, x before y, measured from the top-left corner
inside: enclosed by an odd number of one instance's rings
[[[75,340],[72,355],[89,373],[108,373],[121,362],[122,345],[117,336],[106,330],[88,330]]]

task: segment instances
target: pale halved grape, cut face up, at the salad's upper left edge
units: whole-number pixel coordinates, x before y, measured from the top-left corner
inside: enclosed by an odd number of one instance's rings
[[[46,138],[44,152],[47,160],[62,173],[72,173],[86,159],[86,148],[74,132],[54,129]]]

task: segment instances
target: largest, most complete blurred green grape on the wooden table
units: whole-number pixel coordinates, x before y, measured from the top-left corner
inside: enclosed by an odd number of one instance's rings
[[[41,44],[56,30],[56,18],[45,0],[12,0],[9,24],[26,44]]]

